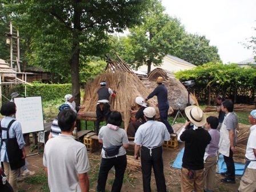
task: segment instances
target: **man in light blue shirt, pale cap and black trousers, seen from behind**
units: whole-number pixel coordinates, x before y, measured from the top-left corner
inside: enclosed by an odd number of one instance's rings
[[[151,191],[151,169],[153,167],[157,191],[168,191],[163,174],[163,141],[170,140],[165,125],[155,120],[154,107],[146,107],[143,110],[146,123],[139,126],[134,138],[134,159],[138,159],[141,149],[141,169],[143,179],[143,191]]]

